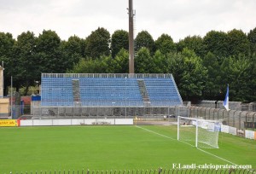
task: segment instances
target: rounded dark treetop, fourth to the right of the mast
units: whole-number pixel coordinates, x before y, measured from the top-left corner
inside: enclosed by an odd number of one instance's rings
[[[228,35],[225,32],[211,31],[203,38],[205,52],[216,55],[221,63],[224,57],[229,56]]]

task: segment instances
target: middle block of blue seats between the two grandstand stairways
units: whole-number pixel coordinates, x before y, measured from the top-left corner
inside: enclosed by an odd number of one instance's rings
[[[79,82],[82,106],[143,106],[136,78],[81,78]]]

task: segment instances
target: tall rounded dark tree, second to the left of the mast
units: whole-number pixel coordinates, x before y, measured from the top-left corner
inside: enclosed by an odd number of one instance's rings
[[[110,55],[110,34],[104,28],[98,28],[91,32],[90,36],[86,38],[85,55],[92,59],[99,58],[101,55]]]

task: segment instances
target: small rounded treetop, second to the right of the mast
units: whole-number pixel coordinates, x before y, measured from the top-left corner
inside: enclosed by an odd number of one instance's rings
[[[175,44],[173,43],[171,36],[167,34],[162,34],[160,38],[155,41],[155,48],[160,50],[164,55],[176,51]]]

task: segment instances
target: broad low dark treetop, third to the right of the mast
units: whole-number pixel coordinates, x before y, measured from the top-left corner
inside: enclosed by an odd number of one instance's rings
[[[204,45],[200,36],[188,36],[177,43],[177,51],[182,52],[184,48],[193,50],[196,55],[203,57]]]

